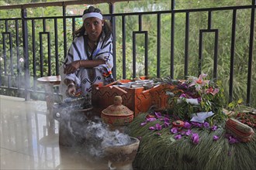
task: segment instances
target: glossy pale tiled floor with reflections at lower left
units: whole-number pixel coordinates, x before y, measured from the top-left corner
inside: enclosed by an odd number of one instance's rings
[[[0,95],[0,104],[0,169],[108,169],[107,162],[60,148],[46,102]]]

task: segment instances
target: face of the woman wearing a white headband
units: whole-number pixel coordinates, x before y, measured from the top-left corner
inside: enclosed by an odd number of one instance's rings
[[[85,19],[84,26],[88,34],[88,38],[92,41],[98,41],[100,34],[102,33],[103,21],[96,17]]]

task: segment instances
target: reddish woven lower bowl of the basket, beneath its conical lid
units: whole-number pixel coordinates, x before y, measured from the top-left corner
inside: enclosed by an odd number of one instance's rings
[[[133,121],[133,113],[131,114],[101,114],[102,121],[112,126],[123,126]]]

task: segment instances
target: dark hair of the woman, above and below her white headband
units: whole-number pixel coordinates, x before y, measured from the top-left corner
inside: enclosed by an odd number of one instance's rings
[[[83,15],[85,15],[86,13],[90,13],[90,12],[98,12],[98,13],[102,14],[102,12],[100,11],[99,8],[94,8],[93,6],[90,6],[89,8],[85,9],[85,11],[83,12]],[[102,31],[106,35],[105,39],[109,39],[109,36],[111,36],[112,31],[111,31],[111,27],[109,26],[108,22],[104,23]],[[74,35],[74,37],[84,36],[85,35],[85,26],[83,25],[83,26],[81,26],[80,29],[74,31],[73,35]]]

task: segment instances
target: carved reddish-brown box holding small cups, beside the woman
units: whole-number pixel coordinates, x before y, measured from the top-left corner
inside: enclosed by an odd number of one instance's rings
[[[147,112],[153,105],[157,109],[164,109],[168,104],[168,96],[165,94],[164,86],[161,84],[155,85],[148,90],[144,90],[144,87],[121,88],[114,85],[102,86],[101,83],[92,86],[92,106],[98,114],[113,104],[115,96],[122,97],[123,105],[133,110],[135,117],[139,113]]]

